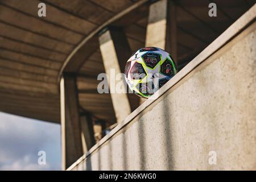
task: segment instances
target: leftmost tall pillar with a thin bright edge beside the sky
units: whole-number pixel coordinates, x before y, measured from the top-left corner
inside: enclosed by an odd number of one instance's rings
[[[63,169],[67,169],[83,154],[78,104],[76,76],[64,74],[60,81],[61,150]]]

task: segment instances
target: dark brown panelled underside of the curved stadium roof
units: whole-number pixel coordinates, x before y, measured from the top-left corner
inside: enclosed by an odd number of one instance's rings
[[[46,3],[47,16],[38,17]],[[133,0],[2,0],[0,2],[0,111],[60,122],[58,76],[70,53],[91,32],[138,1]],[[255,1],[217,3],[217,17],[208,16],[209,1],[180,0],[176,5],[177,62],[184,67]],[[150,1],[109,26],[123,28],[132,51],[144,47]],[[97,34],[77,73],[79,102],[96,118],[114,123],[110,94],[97,93],[97,75],[104,73]],[[86,53],[85,53],[86,54]]]

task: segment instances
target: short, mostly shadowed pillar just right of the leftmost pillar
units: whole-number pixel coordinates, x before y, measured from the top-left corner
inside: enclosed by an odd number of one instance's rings
[[[92,117],[87,113],[80,115],[82,151],[84,154],[95,144]]]

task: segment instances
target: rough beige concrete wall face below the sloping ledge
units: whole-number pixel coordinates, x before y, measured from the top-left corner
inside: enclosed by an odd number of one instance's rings
[[[254,23],[73,169],[255,170],[255,36]]]

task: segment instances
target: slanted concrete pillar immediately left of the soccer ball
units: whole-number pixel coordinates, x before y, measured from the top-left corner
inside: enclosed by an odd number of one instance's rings
[[[105,72],[109,78],[109,88],[115,117],[117,122],[123,121],[131,113],[131,105],[129,98],[125,92],[127,88],[125,79],[123,79],[122,93],[115,93],[115,76],[123,73],[126,61],[131,56],[129,43],[127,42],[124,32],[117,28],[109,28],[99,36],[100,51],[105,67]],[[114,74],[110,74],[110,69],[114,70]],[[111,77],[110,77],[111,76]],[[131,95],[131,94],[129,94]]]

